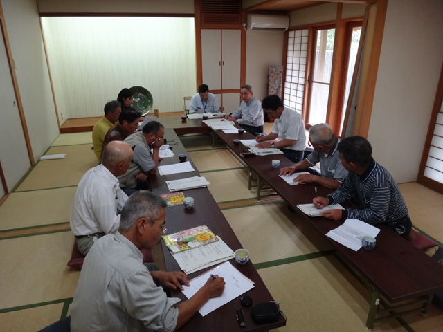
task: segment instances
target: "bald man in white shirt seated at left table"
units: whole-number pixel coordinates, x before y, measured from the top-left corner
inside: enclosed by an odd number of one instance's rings
[[[132,159],[125,142],[110,142],[103,149],[102,164],[82,176],[71,206],[69,225],[77,238],[78,251],[87,255],[99,237],[114,233],[127,195],[118,186]]]

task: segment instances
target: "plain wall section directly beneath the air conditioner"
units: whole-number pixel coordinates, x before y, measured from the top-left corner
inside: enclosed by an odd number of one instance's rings
[[[282,66],[283,37],[280,31],[246,32],[246,84],[260,102],[267,95],[268,67]]]

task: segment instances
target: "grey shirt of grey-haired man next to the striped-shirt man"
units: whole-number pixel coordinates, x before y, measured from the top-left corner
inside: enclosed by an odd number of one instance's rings
[[[331,180],[343,182],[347,176],[347,170],[343,167],[340,161],[340,153],[337,149],[339,142],[340,140],[336,138],[334,146],[331,148],[331,151],[329,151],[329,154],[314,150],[306,159],[312,165],[316,165],[316,163],[320,162],[320,171],[323,178],[330,178]]]

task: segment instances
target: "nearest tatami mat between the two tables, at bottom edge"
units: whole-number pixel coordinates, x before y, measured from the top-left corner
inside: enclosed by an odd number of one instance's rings
[[[367,331],[369,300],[365,288],[333,257],[320,257],[258,270],[287,316],[273,331]],[[393,320],[373,331],[405,331]]]

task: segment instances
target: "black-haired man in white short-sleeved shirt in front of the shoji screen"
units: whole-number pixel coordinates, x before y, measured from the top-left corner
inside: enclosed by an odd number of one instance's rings
[[[284,107],[278,95],[268,95],[262,103],[263,110],[275,119],[272,132],[266,136],[257,135],[256,147],[277,147],[283,151],[286,158],[298,163],[303,159],[306,145],[305,122],[302,116],[289,107]],[[266,142],[275,140],[278,142]]]

